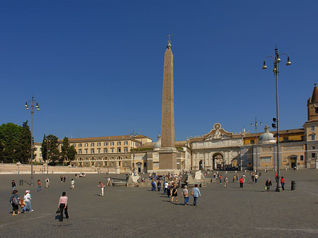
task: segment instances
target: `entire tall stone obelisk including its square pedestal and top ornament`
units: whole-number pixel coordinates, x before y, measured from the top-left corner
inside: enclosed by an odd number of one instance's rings
[[[175,105],[173,99],[173,54],[171,41],[167,44],[163,66],[163,107],[161,112],[161,148],[159,172],[177,172],[177,149],[175,148]]]

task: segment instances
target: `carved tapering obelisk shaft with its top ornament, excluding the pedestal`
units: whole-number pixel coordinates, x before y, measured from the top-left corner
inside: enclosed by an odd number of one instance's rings
[[[163,108],[161,113],[161,147],[175,146],[175,107],[173,99],[173,54],[170,37],[163,66]]]

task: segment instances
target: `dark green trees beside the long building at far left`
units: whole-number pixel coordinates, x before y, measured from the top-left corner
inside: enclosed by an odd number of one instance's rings
[[[33,140],[34,141],[34,140]],[[33,143],[34,145],[34,143]],[[65,137],[59,150],[59,138],[50,134],[42,141],[42,159],[49,162],[74,160],[76,149],[69,145],[69,138]],[[0,162],[22,164],[29,163],[31,157],[31,131],[28,121],[18,126],[11,122],[0,126]],[[35,153],[33,150],[33,158]]]

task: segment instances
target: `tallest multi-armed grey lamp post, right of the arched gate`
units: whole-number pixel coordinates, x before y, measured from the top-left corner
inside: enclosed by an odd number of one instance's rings
[[[286,53],[283,53],[281,55],[287,56],[287,63],[286,66],[289,66],[291,62],[289,61],[289,55]],[[265,64],[265,59],[268,57],[271,57],[273,59],[273,73],[274,76],[276,76],[276,138],[277,138],[277,186],[276,191],[283,191],[281,186],[281,173],[279,171],[279,120],[278,120],[278,75],[279,75],[279,62],[281,62],[281,58],[279,58],[280,54],[278,54],[278,49],[276,47],[275,49],[275,56],[266,56],[264,58],[264,64],[263,69],[267,69],[267,66]]]

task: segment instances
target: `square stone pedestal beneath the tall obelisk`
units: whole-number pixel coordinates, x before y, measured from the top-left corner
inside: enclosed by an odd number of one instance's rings
[[[163,147],[158,150],[159,153],[159,169],[157,174],[179,174],[177,169],[177,153],[175,147]]]

